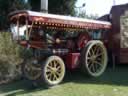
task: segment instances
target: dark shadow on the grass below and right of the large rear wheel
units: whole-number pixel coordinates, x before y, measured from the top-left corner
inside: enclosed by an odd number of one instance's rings
[[[81,72],[74,72],[66,76],[67,82],[83,84],[107,84],[115,86],[128,86],[128,65],[118,65],[116,69],[108,68],[106,72],[96,78],[91,78]]]

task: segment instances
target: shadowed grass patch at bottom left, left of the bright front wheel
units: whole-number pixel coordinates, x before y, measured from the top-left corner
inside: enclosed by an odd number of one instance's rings
[[[35,87],[33,86],[31,81],[28,80],[20,80],[14,83],[10,83],[7,85],[0,86],[0,94],[4,94],[4,96],[16,96],[20,94],[25,94],[29,92],[35,92],[39,90],[47,90],[46,87]],[[1,96],[1,95],[0,95]]]

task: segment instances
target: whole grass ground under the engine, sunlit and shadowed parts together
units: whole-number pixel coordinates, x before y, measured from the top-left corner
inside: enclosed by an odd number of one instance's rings
[[[62,84],[46,89],[32,87],[30,81],[0,86],[0,96],[128,96],[128,66],[108,68],[98,78],[80,72],[67,73]]]

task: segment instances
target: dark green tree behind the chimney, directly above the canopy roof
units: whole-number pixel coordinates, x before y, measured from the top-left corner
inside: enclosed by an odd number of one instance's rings
[[[77,0],[49,0],[48,11],[53,14],[75,15],[75,3]],[[32,10],[40,11],[40,0],[29,0]]]

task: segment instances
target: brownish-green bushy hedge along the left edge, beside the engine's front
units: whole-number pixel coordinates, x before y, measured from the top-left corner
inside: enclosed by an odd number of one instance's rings
[[[8,32],[0,33],[0,84],[18,79],[21,75],[21,48],[11,40]]]

